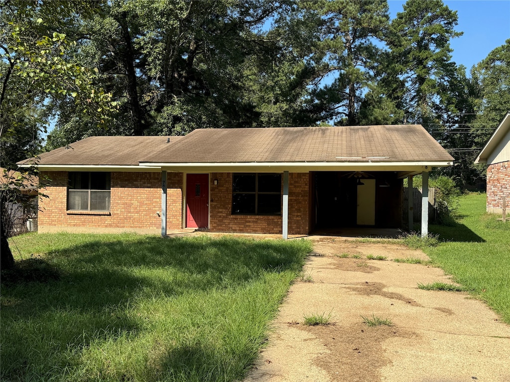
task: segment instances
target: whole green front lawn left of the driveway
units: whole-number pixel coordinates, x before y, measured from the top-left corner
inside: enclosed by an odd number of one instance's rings
[[[27,234],[11,248],[60,278],[2,285],[2,381],[202,382],[243,378],[311,243]]]

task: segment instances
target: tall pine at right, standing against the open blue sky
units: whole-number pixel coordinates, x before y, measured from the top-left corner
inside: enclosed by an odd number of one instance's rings
[[[407,121],[426,128],[438,123],[436,110],[455,75],[450,39],[461,36],[454,30],[457,13],[441,0],[408,0],[403,12],[392,21],[389,47],[399,79],[405,86],[402,106]]]

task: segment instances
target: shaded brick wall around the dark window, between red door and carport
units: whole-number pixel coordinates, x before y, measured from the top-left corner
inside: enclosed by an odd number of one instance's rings
[[[209,228],[211,231],[282,233],[282,216],[232,214],[232,173],[212,173],[210,179],[211,225]],[[214,185],[214,179],[218,179],[217,185]],[[291,235],[309,233],[308,180],[308,173],[289,174],[289,234]]]

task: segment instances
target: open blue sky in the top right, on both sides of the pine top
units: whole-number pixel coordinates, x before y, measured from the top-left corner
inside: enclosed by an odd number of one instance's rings
[[[452,60],[464,65],[468,72],[494,48],[510,39],[510,0],[443,0],[457,11],[457,32],[464,35],[450,41]],[[402,12],[405,1],[389,0],[390,17]]]

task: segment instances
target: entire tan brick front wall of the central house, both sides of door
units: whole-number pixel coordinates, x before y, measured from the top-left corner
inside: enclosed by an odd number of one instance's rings
[[[44,172],[51,182],[42,192],[40,232],[161,232],[161,173],[112,172],[110,211],[67,211],[68,173]],[[218,185],[214,185],[218,179]],[[167,174],[167,229],[182,228],[182,173]],[[283,189],[283,184],[282,184]],[[232,215],[232,173],[210,176],[210,230],[282,233],[282,216]],[[289,174],[289,234],[308,234],[309,174]]]

